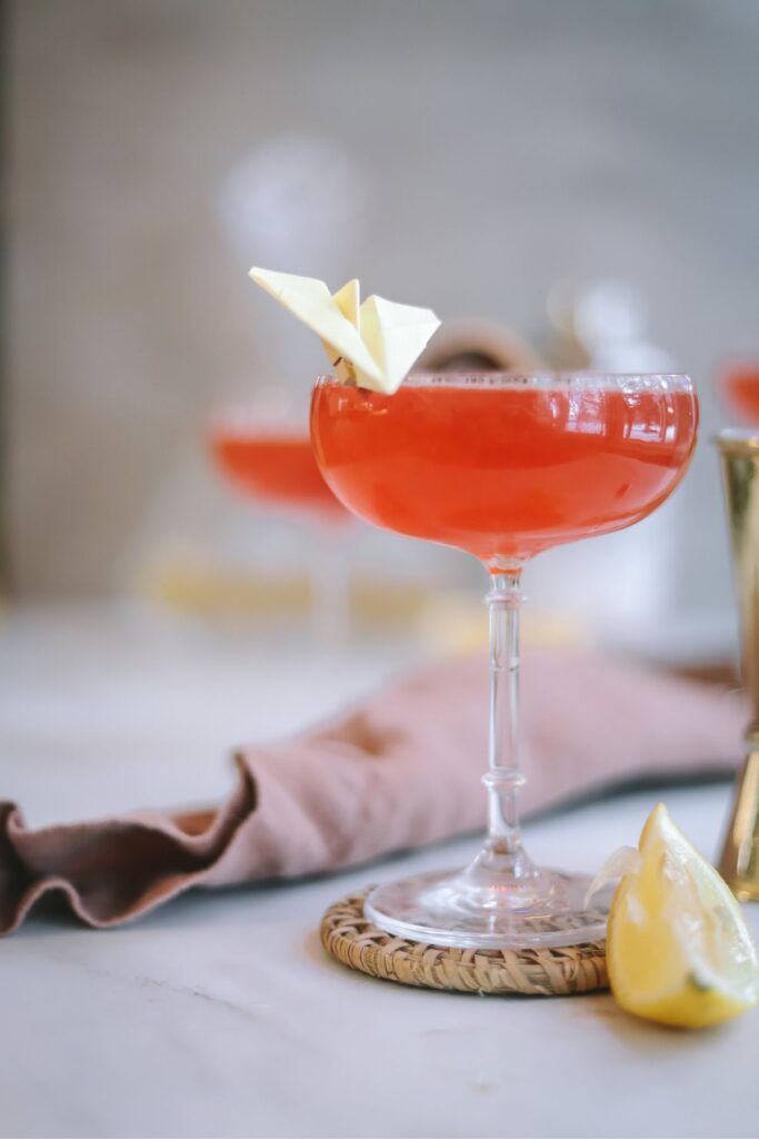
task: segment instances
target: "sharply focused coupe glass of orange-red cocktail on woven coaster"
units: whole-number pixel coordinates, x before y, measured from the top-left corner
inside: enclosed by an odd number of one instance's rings
[[[469,551],[490,581],[485,844],[463,869],[374,890],[365,913],[382,929],[470,948],[603,936],[608,893],[588,907],[589,877],[535,866],[520,835],[522,570],[542,550],[655,510],[685,473],[696,425],[686,376],[412,372],[394,395],[317,380],[314,452],[340,501],[374,525]]]

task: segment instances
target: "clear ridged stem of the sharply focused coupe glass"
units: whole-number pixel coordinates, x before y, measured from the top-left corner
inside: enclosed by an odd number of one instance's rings
[[[517,805],[525,782],[519,767],[519,618],[521,566],[492,572],[489,612],[490,724],[487,787],[487,843],[490,858],[505,859],[512,872],[529,872],[522,852]]]

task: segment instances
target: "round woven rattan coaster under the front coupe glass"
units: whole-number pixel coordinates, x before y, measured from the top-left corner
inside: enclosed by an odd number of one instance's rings
[[[330,906],[320,927],[324,948],[343,965],[383,981],[464,993],[553,997],[605,989],[602,941],[562,949],[448,949],[404,941],[364,917],[368,890]]]

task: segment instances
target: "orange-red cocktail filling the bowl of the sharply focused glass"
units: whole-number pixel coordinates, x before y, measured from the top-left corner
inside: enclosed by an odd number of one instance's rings
[[[317,384],[312,439],[327,481],[377,526],[484,562],[619,530],[683,476],[698,404],[686,388]]]

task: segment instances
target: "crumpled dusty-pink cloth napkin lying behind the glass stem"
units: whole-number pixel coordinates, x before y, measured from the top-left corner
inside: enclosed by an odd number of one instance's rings
[[[716,686],[533,653],[523,809],[633,777],[731,771],[746,720],[745,698]],[[0,802],[0,933],[50,891],[88,925],[114,926],[191,886],[337,870],[473,830],[485,821],[486,735],[487,665],[468,657],[390,685],[328,727],[240,751],[234,789],[215,810],[31,830]]]

